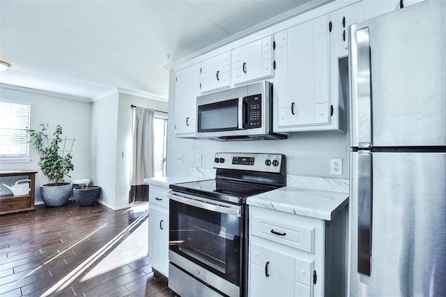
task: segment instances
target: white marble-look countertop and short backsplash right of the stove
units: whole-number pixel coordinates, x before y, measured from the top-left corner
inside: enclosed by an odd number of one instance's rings
[[[323,220],[348,204],[348,179],[289,176],[287,185],[249,197],[247,204]]]

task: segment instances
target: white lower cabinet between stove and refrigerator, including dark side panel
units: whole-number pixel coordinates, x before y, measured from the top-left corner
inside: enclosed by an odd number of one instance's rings
[[[249,206],[249,296],[346,296],[346,264],[346,211],[325,221]]]

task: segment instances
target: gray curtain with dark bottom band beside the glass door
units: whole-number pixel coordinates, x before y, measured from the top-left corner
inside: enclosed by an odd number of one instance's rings
[[[155,175],[153,111],[139,106],[134,110],[129,203],[148,201],[148,185],[144,184],[144,179]]]

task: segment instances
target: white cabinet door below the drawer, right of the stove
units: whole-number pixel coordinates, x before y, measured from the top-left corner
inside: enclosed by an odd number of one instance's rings
[[[313,262],[252,242],[249,296],[313,296]]]

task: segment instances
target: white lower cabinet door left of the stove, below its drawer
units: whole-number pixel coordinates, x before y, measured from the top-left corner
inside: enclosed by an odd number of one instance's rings
[[[149,259],[153,268],[169,274],[169,214],[167,210],[151,206],[149,209]]]

